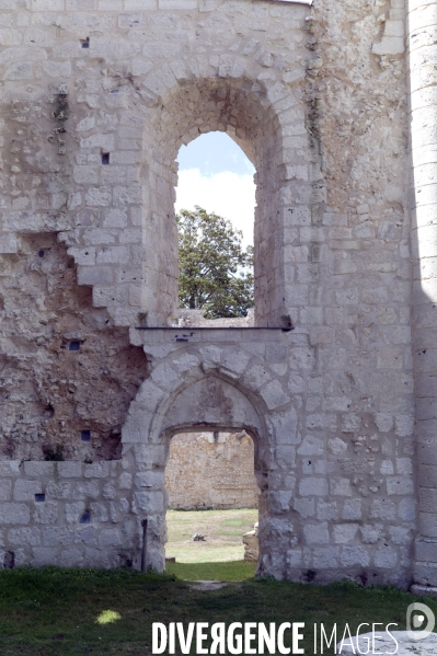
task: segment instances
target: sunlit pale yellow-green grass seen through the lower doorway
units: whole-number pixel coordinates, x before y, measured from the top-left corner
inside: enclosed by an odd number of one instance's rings
[[[253,529],[257,518],[256,509],[168,510],[169,541],[165,545],[165,555],[175,557],[176,563],[242,561],[243,533]],[[205,536],[205,542],[193,542],[194,533]],[[174,568],[170,571],[174,573]]]

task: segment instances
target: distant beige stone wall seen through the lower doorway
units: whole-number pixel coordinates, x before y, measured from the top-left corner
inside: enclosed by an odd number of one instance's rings
[[[252,438],[237,433],[181,433],[170,442],[170,508],[254,508],[258,488]]]

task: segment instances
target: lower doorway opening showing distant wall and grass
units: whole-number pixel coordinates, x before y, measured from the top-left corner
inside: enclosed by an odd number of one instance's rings
[[[196,580],[254,576],[260,490],[251,436],[245,430],[174,435],[165,487],[166,569]]]

